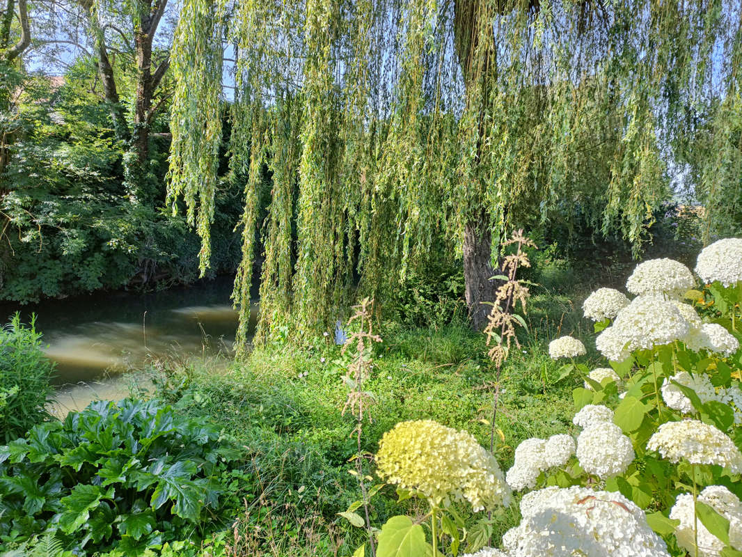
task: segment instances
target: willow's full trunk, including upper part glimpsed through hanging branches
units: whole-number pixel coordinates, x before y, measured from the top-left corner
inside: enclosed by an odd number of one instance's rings
[[[481,160],[485,139],[485,112],[487,84],[496,73],[495,49],[491,31],[482,41],[482,27],[489,18],[482,0],[456,0],[454,15],[454,42],[456,55],[464,76],[467,105],[476,102],[479,110],[477,158]],[[486,29],[486,27],[485,27]],[[472,99],[477,99],[473,101]],[[471,106],[469,107],[472,108]],[[475,175],[478,175],[475,172]],[[489,212],[484,206],[485,180],[470,184],[475,189],[470,214],[464,224],[464,287],[469,316],[474,328],[481,330],[487,325],[491,306],[487,302],[495,299],[496,284],[492,281],[492,229]],[[479,201],[479,203],[477,202]]]

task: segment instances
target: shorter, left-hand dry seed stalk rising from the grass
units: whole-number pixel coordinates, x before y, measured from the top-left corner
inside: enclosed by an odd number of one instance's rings
[[[373,367],[371,357],[374,342],[381,342],[381,336],[375,335],[372,328],[372,306],[373,299],[365,298],[360,304],[353,306],[355,313],[348,320],[348,325],[358,322],[358,330],[348,336],[343,345],[341,354],[345,354],[349,347],[355,345],[353,359],[348,365],[347,374],[343,377],[343,382],[349,388],[348,398],[343,406],[342,414],[350,411],[355,417],[355,428],[351,435],[355,434],[356,452],[355,452],[355,477],[358,478],[358,485],[361,486],[362,505],[364,507],[364,521],[366,531],[369,535],[371,545],[371,556],[376,557],[376,547],[373,539],[373,530],[369,515],[369,497],[366,480],[364,478],[364,452],[361,448],[361,435],[363,434],[364,414],[369,422],[371,417],[367,412],[368,407],[375,402],[375,397],[370,391],[364,390],[364,385],[370,377]]]

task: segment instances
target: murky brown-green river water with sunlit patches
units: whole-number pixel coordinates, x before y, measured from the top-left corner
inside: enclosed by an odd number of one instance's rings
[[[26,306],[2,304],[0,319],[7,322],[20,311],[22,321],[29,322],[36,313],[36,330],[56,362],[53,411],[65,414],[97,398],[148,389],[140,374],[125,372],[145,368],[154,359],[231,356],[237,329],[231,293],[232,278],[222,277],[146,294],[119,291]]]

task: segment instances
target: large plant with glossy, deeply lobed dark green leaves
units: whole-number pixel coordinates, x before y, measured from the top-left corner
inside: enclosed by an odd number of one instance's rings
[[[169,406],[98,401],[0,448],[0,540],[56,531],[78,555],[123,556],[214,518],[234,449]]]

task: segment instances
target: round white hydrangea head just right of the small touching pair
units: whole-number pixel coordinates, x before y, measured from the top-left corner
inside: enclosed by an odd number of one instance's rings
[[[614,423],[596,423],[577,437],[577,460],[588,474],[601,479],[626,472],[634,460],[634,447],[621,428]]]

